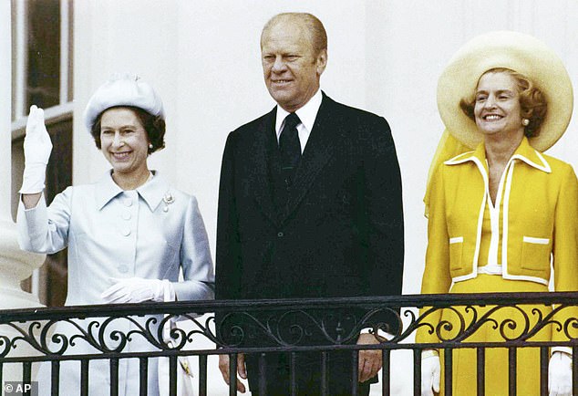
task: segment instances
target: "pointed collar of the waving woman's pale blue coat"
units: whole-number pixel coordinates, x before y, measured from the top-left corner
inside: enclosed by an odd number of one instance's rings
[[[167,198],[172,200],[167,182],[164,181],[158,171],[152,172],[154,177],[136,189],[137,193],[139,193],[144,202],[149,206],[150,212],[154,212],[163,199]],[[98,210],[102,210],[107,203],[122,192],[123,190],[119,185],[112,180],[112,171],[108,171],[96,185],[95,194]]]

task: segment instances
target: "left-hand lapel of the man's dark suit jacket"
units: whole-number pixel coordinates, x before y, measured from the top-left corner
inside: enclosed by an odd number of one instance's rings
[[[269,177],[269,164],[273,150],[276,148],[275,137],[275,109],[266,114],[263,122],[258,126],[258,130],[253,140],[251,152],[254,154],[250,165],[254,170],[251,188],[255,200],[263,213],[274,223],[277,224],[277,214],[274,210],[271,178]]]

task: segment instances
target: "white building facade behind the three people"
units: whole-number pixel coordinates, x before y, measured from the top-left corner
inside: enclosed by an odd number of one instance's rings
[[[227,134],[274,106],[263,83],[261,29],[280,12],[318,16],[325,24],[329,46],[322,89],[337,101],[386,117],[392,129],[404,188],[406,294],[419,292],[423,271],[427,221],[422,199],[429,162],[443,130],[436,86],[449,58],[473,36],[517,30],[536,36],[562,57],[578,92],[576,0],[55,2],[61,12],[59,95],[46,116],[55,124],[71,122],[72,182],[95,181],[108,169],[83,126],[89,96],[111,73],[139,74],[159,91],[167,114],[167,148],[150,158],[151,168],[197,196],[213,254]],[[0,136],[4,140],[0,144],[0,309],[39,304],[37,297],[20,289],[19,282],[43,261],[19,251],[13,220],[23,161],[19,141],[27,113],[21,91],[26,85],[23,46],[29,26],[23,18],[28,3],[0,0]],[[549,153],[576,169],[575,109],[569,129]],[[33,279],[32,289],[44,301],[46,276]],[[411,357],[402,355],[399,359],[410,364]],[[211,370],[210,386],[226,394],[216,366]],[[399,377],[394,386],[394,394],[410,394],[411,380]]]

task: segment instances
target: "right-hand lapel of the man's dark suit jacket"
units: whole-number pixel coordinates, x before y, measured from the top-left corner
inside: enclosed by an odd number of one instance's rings
[[[301,161],[295,169],[294,185],[285,206],[283,220],[292,214],[297,205],[301,203],[305,193],[333,155],[338,124],[334,119],[334,107],[335,102],[323,93],[323,100],[317,112],[313,130],[311,130],[309,140],[305,145]]]

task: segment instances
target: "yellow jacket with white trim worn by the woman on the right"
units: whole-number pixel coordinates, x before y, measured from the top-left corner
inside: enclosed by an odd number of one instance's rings
[[[535,151],[524,138],[505,168],[501,266],[505,279],[578,290],[578,181],[572,166]],[[439,166],[431,183],[424,294],[478,275],[487,206],[483,144]],[[501,193],[499,193],[501,195]]]

